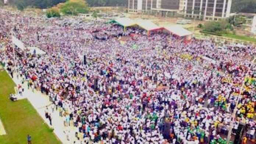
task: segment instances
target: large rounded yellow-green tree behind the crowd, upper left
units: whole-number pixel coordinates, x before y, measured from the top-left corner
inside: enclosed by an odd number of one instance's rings
[[[61,12],[66,15],[86,14],[89,12],[89,7],[84,0],[69,0],[61,6]]]

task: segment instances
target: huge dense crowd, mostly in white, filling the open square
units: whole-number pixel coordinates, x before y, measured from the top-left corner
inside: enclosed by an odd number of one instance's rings
[[[61,19],[0,15],[0,61],[49,96],[65,125],[77,127],[75,143],[224,144],[239,124],[255,138],[254,46],[220,50],[213,40],[185,43],[135,27],[82,22],[74,28]],[[11,30],[46,54],[15,48],[15,60]],[[132,33],[136,39],[120,43]]]

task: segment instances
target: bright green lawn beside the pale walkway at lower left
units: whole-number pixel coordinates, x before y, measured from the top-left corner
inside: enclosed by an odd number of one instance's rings
[[[6,71],[1,71],[0,119],[7,134],[0,136],[0,144],[26,144],[27,134],[31,135],[32,144],[60,144],[27,99],[17,102],[8,99],[14,86]]]

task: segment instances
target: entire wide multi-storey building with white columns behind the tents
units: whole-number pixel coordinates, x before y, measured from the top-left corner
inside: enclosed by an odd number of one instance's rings
[[[128,0],[128,12],[218,20],[230,17],[231,4],[232,0]]]

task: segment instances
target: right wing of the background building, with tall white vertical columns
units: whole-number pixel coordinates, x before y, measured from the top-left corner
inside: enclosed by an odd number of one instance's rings
[[[218,20],[230,17],[232,0],[185,0],[185,17]]]

